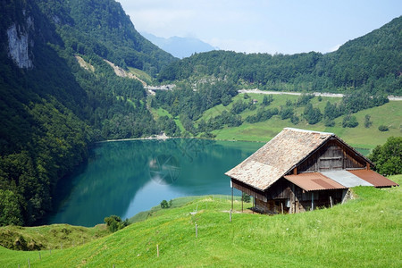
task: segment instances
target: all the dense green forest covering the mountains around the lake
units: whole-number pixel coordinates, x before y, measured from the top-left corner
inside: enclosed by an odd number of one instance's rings
[[[160,131],[212,138],[213,130],[274,115],[328,125],[348,115],[350,127],[351,113],[402,95],[401,18],[331,54],[214,51],[179,61],[141,37],[113,0],[5,0],[0,8],[0,225],[35,224],[51,211],[57,181],[98,140]],[[105,60],[177,86],[149,96],[140,81],[117,76]],[[311,106],[308,94],[280,109],[269,107],[266,96],[242,118],[256,105],[247,95],[232,98],[239,88],[255,87],[347,96],[324,111]],[[216,105],[230,109],[205,121],[203,113]],[[294,113],[300,106],[303,118]],[[155,116],[159,108],[169,116]]]

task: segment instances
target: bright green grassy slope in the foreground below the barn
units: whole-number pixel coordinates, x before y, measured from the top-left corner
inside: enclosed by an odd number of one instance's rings
[[[390,178],[400,184],[402,175]],[[402,189],[355,188],[356,200],[305,214],[233,214],[200,197],[88,244],[38,252],[0,247],[0,266],[21,267],[400,267]],[[191,215],[197,208],[197,214]],[[239,211],[240,203],[235,203]],[[198,238],[195,238],[195,224]],[[156,245],[160,256],[156,256]]]

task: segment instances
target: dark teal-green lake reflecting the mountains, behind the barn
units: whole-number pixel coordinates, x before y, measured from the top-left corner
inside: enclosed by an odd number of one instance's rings
[[[46,223],[94,226],[111,214],[130,218],[163,199],[230,195],[224,172],[263,145],[191,138],[99,144],[88,163],[59,184],[57,212]]]

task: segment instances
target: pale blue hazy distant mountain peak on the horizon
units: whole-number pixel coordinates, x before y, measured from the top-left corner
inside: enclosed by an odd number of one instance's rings
[[[195,53],[219,49],[218,47],[211,46],[198,38],[180,38],[176,36],[171,38],[160,38],[147,32],[141,32],[141,35],[156,46],[162,48],[164,51],[180,59],[189,57]]]

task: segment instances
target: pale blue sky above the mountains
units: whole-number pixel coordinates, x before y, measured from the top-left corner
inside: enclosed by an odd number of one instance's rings
[[[140,32],[246,53],[327,53],[402,15],[401,0],[117,1]]]

